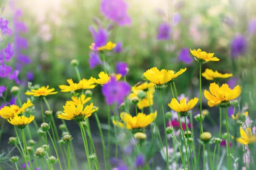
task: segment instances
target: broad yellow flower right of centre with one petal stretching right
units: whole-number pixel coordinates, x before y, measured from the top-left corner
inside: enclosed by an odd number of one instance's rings
[[[186,68],[180,69],[176,74],[174,74],[174,71],[172,70],[165,70],[162,69],[159,71],[156,67],[150,68],[144,73],[144,76],[146,79],[148,79],[150,82],[156,84],[156,85],[163,85],[166,82],[169,82],[171,79],[174,79],[178,77],[180,74],[184,73],[186,71]]]

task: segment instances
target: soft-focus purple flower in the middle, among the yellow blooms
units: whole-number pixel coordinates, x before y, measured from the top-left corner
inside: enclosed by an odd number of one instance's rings
[[[102,94],[108,105],[115,102],[120,105],[130,92],[131,86],[127,82],[116,81],[116,77],[111,77],[110,81],[102,87]]]

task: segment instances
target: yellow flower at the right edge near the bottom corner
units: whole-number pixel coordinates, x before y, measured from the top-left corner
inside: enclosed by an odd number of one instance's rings
[[[246,133],[245,133],[246,131]],[[252,144],[256,142],[256,136],[252,134],[250,127],[247,127],[245,131],[240,127],[241,138],[236,138],[236,141],[241,144]]]

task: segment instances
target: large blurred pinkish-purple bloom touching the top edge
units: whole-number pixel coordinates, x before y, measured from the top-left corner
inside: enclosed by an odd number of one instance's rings
[[[131,25],[131,17],[128,15],[127,10],[128,4],[124,0],[101,1],[101,13],[119,26]]]

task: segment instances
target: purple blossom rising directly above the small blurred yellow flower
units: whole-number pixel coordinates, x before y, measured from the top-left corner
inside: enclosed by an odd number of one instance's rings
[[[99,28],[98,32],[96,32],[93,27],[89,26],[89,31],[93,36],[93,42],[95,43],[94,48],[102,47],[102,46],[106,45],[106,43],[108,42],[108,31],[107,30],[105,30],[103,28]]]

